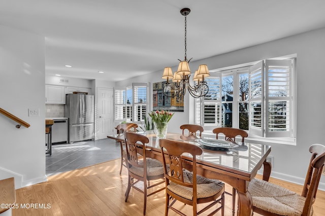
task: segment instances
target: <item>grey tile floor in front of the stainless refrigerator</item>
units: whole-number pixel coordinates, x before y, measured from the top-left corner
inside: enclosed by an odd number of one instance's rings
[[[112,139],[52,145],[46,155],[46,175],[70,171],[121,157],[120,144]]]

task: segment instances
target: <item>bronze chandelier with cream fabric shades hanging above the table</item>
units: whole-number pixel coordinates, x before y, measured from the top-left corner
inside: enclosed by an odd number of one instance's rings
[[[184,61],[179,60],[179,65],[177,71],[173,74],[171,67],[165,67],[163,76],[161,78],[167,79],[164,84],[164,95],[167,97],[183,97],[186,90],[194,98],[199,98],[205,96],[209,92],[209,87],[204,81],[205,77],[210,76],[208,66],[203,64],[199,66],[199,69],[195,71],[193,76],[194,85],[190,85],[189,77],[191,71],[189,69],[188,63],[189,59],[186,58],[186,16],[191,10],[189,8],[183,8],[180,13],[185,17],[185,58]],[[171,93],[174,94],[171,94]]]

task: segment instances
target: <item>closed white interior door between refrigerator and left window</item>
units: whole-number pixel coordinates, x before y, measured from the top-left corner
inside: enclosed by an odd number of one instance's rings
[[[113,90],[98,89],[98,125],[99,139],[107,138],[114,133],[113,127]]]

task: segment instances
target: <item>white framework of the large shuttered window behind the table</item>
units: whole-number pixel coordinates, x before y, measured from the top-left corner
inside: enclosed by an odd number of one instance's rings
[[[289,71],[289,85],[288,85],[288,91],[289,95],[285,97],[269,97],[268,92],[269,92],[269,82],[268,82],[268,66],[272,65],[281,65],[281,61],[290,62],[289,67],[291,68]],[[295,69],[295,64],[296,64],[296,58],[291,58],[291,59],[285,59],[285,60],[263,60],[260,62],[255,63],[254,65],[250,67],[242,67],[242,68],[234,68],[234,69],[229,69],[229,70],[223,70],[223,71],[218,71],[218,72],[211,72],[211,77],[219,77],[220,78],[220,97],[221,95],[221,87],[222,87],[222,75],[223,74],[231,74],[233,73],[234,77],[234,93],[233,96],[233,127],[238,128],[239,127],[239,103],[244,102],[248,103],[248,113],[249,113],[249,130],[248,133],[249,135],[257,135],[258,137],[264,137],[264,138],[271,138],[271,137],[287,137],[287,138],[295,138],[296,137],[296,100],[295,100],[295,91],[296,91],[296,69]],[[286,64],[288,65],[288,64]],[[253,93],[253,89],[251,86],[251,81],[253,80],[253,73],[256,71],[258,68],[261,69],[261,82],[262,82],[262,89],[261,89],[261,95],[259,97],[251,97],[251,94]],[[237,89],[239,88],[239,74],[241,73],[247,73],[249,76],[249,97],[248,100],[246,101],[240,101],[239,96],[237,95]],[[209,77],[208,77],[209,78]],[[271,81],[270,81],[271,83]],[[287,101],[289,108],[287,108],[288,114],[285,114],[287,118],[285,118],[286,126],[289,128],[286,131],[269,131],[269,102],[271,101]],[[220,102],[221,101],[220,98]],[[211,100],[210,100],[211,103]],[[262,112],[262,118],[261,118],[261,127],[254,127],[251,125],[251,120],[252,120],[252,113],[254,110],[252,110],[252,104],[256,103],[261,103],[261,112]],[[209,104],[209,101],[204,100],[204,97],[196,99],[195,100],[195,116],[194,116],[194,123],[200,124],[204,127],[205,131],[211,131],[215,127],[221,127],[221,110],[218,113],[219,116],[219,123],[215,124],[206,124],[204,123],[204,107],[206,104]],[[222,107],[220,107],[221,109]],[[271,124],[270,124],[271,125]]]

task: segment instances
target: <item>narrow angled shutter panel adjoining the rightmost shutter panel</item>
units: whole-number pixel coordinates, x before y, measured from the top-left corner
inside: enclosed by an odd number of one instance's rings
[[[263,137],[264,62],[249,69],[249,133]]]

